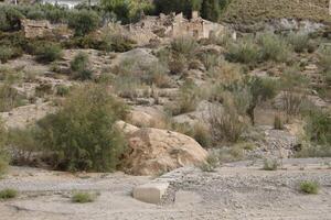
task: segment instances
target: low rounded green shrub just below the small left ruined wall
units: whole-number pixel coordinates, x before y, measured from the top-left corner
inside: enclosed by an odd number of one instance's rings
[[[50,63],[62,58],[62,48],[58,44],[47,43],[36,48],[36,59],[39,62]]]

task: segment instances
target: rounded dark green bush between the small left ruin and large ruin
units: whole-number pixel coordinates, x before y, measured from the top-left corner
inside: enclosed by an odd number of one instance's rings
[[[95,11],[75,11],[68,19],[68,26],[75,30],[76,36],[84,36],[95,31],[100,22],[99,15]]]

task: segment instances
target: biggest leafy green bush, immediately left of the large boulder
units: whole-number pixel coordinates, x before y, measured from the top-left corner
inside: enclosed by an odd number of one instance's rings
[[[52,165],[65,170],[114,170],[125,150],[124,135],[114,125],[126,106],[106,88],[77,88],[54,114],[38,122],[39,140],[53,153]]]

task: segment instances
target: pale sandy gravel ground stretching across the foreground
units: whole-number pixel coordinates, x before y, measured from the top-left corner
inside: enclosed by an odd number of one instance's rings
[[[108,220],[108,219],[331,219],[331,158],[288,160],[275,172],[261,162],[225,164],[214,173],[185,167],[171,177],[171,193],[163,206],[131,197],[132,188],[152,177],[79,174],[12,167],[0,180],[20,196],[0,202],[1,220]],[[318,195],[298,190],[302,180],[317,180]],[[73,190],[99,191],[92,204],[72,204]],[[173,197],[172,197],[173,196]]]

